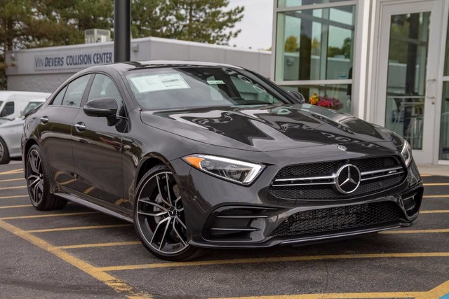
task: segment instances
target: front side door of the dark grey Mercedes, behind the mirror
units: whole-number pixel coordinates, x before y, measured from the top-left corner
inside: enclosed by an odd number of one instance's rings
[[[109,76],[95,74],[86,103],[93,99],[114,98],[123,116],[120,92]],[[121,165],[123,122],[108,125],[107,118],[87,116],[81,109],[72,130],[76,190],[112,204],[123,203]],[[101,204],[101,203],[100,203]]]

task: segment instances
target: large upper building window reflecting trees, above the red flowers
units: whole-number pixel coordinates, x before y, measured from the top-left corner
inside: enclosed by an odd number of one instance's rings
[[[349,79],[355,6],[278,13],[276,81]]]

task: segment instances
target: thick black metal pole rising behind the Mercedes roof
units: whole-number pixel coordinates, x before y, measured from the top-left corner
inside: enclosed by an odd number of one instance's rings
[[[131,1],[114,0],[114,62],[130,60]]]

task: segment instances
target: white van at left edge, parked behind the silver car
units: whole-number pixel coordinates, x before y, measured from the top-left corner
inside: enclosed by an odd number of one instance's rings
[[[36,99],[46,99],[48,92],[0,91],[0,117],[17,118],[22,115],[25,106]]]

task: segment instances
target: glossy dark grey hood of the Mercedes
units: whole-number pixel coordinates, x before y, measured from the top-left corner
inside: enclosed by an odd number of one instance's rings
[[[310,104],[144,111],[141,118],[182,137],[248,151],[392,140],[382,127]]]

